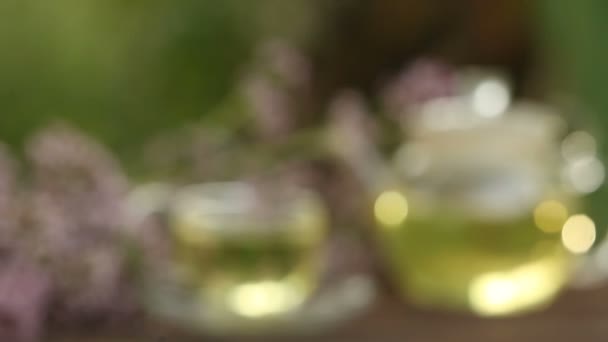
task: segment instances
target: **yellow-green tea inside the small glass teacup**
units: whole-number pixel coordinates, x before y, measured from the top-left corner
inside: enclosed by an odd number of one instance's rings
[[[207,311],[264,318],[296,310],[311,296],[321,272],[324,216],[314,205],[291,209],[273,217],[173,213],[179,277]]]

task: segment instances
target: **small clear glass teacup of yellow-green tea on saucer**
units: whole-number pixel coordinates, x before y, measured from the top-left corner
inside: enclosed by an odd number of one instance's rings
[[[153,311],[219,331],[263,330],[319,286],[327,215],[314,192],[208,183],[174,192],[164,206],[170,252],[145,268]]]

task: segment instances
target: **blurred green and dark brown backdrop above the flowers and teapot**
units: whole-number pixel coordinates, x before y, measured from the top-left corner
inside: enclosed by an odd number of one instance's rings
[[[311,116],[341,88],[377,93],[420,57],[504,69],[518,95],[576,90],[598,113],[601,14],[592,1],[5,1],[1,133],[18,146],[65,118],[133,149],[207,115],[269,39],[310,57]]]

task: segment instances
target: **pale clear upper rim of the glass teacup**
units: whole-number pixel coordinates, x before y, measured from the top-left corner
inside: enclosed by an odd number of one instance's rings
[[[246,181],[184,186],[174,194],[168,212],[172,222],[191,218],[205,229],[226,233],[284,232],[302,226],[292,222],[312,217],[324,225],[327,218],[323,201],[311,189]]]

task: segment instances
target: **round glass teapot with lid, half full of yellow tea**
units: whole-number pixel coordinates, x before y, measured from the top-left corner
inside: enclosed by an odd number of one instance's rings
[[[546,305],[595,240],[581,200],[603,182],[594,140],[500,79],[420,105],[376,197],[377,241],[422,306],[508,315]]]

